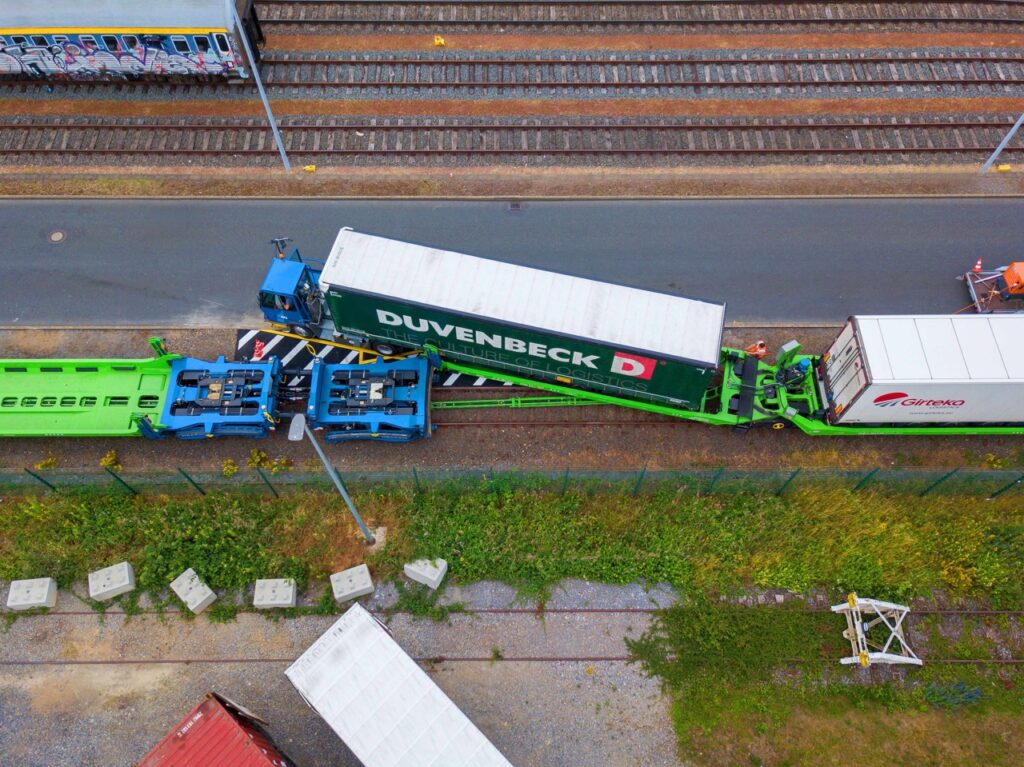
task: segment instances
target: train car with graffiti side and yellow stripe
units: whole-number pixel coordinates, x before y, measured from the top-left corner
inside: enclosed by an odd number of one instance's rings
[[[241,35],[258,55],[253,0],[2,2],[0,80],[240,81]]]

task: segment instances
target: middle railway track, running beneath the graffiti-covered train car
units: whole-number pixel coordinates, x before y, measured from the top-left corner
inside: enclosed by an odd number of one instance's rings
[[[673,52],[595,52],[537,55],[473,53],[354,55],[279,53],[261,66],[276,98],[324,96],[504,97],[842,97],[914,94],[1019,95],[1024,56],[1017,51],[809,52],[793,54],[680,55]],[[0,93],[69,94],[141,90],[145,98],[171,98],[184,90],[251,97],[251,89],[227,83],[152,81],[47,83],[0,80]],[[228,95],[230,94],[230,95]]]

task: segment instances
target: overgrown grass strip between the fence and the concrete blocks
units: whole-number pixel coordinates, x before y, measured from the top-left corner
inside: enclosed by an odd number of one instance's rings
[[[512,486],[501,477],[423,492],[362,488],[355,501],[388,545],[382,577],[413,558],[444,557],[464,583],[503,581],[546,598],[566,578],[668,583],[688,594],[746,588],[857,591],[909,599],[941,591],[993,606],[1024,602],[1024,505],[839,487],[702,496],[668,483],[634,497],[600,489]],[[0,578],[52,574],[62,586],[121,559],[143,591],[186,567],[215,589],[257,578],[300,588],[364,558],[337,498],[318,492],[133,498],[118,493],[10,497],[0,516]]]

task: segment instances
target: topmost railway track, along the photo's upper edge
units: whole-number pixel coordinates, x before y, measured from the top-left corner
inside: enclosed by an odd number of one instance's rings
[[[1016,0],[995,2],[755,2],[754,0],[259,0],[271,33],[814,32],[992,30],[1024,20]]]

